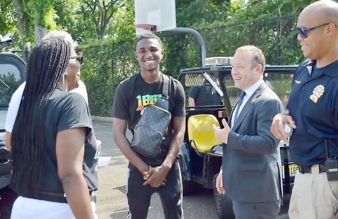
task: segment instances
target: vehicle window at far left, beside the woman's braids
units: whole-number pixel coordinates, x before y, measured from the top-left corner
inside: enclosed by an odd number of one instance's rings
[[[19,69],[13,64],[0,64],[0,105],[8,105],[12,94],[20,86]]]

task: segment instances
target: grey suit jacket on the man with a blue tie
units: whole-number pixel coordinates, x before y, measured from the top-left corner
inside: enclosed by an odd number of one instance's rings
[[[281,198],[279,140],[270,131],[274,116],[281,112],[284,108],[279,97],[262,83],[233,124],[222,160],[223,185],[231,200],[267,202]],[[233,110],[229,126],[232,114]]]

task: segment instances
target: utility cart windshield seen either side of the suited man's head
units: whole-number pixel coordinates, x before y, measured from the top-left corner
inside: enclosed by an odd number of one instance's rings
[[[287,102],[289,100],[292,78],[293,75],[278,71],[265,72],[263,75],[264,82],[278,95],[283,103],[284,108],[286,108]],[[233,107],[237,99],[240,97],[242,90],[235,88],[234,81],[230,75],[224,78],[224,83],[226,85],[231,106]]]

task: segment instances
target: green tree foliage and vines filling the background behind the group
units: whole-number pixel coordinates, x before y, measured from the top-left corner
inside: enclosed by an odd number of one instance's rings
[[[251,44],[263,50],[268,64],[297,64],[303,59],[296,39],[297,15],[312,2],[180,0],[176,1],[176,20],[177,26],[201,33],[209,57],[232,56],[239,46]],[[133,45],[134,0],[0,2],[2,35],[32,42],[37,18],[47,30],[71,33],[84,53],[81,77],[87,86],[90,110],[93,115],[109,116],[116,86],[139,70]],[[163,40],[161,70],[165,74],[177,76],[182,68],[200,66],[200,47],[193,36],[158,34]]]

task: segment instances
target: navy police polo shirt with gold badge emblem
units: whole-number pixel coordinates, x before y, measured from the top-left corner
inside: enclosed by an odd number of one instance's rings
[[[312,166],[329,154],[338,156],[338,60],[324,67],[316,62],[299,65],[287,105],[297,128],[290,137],[290,156],[295,164]]]

